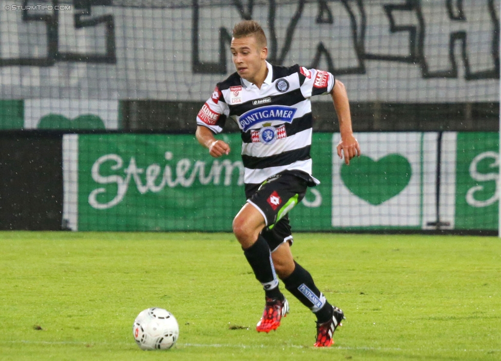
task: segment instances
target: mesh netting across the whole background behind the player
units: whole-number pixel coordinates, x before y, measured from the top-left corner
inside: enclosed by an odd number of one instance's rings
[[[346,84],[364,153],[349,168],[333,156],[332,103],[315,97],[322,184],[293,211],[296,229],[497,229],[499,5],[0,1],[0,132],[68,133],[64,227],[229,230],[239,152],[211,159],[192,134],[234,72],[233,25],[253,18],[270,62]]]

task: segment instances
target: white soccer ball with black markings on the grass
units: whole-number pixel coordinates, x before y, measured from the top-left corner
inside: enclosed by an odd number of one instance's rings
[[[169,311],[151,307],[138,314],[132,334],[143,350],[168,350],[178,341],[179,325]]]

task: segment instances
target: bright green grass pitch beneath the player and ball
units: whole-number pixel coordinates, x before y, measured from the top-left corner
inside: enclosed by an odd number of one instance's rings
[[[229,233],[0,232],[0,359],[501,359],[498,238],[296,233],[293,252],[346,315],[329,349],[285,290],[282,325],[255,331],[264,295]],[[134,343],[152,306],[179,322],[171,350]]]

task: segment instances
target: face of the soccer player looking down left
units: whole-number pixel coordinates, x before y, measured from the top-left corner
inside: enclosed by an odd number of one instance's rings
[[[255,36],[233,38],[231,51],[238,75],[252,83],[261,84],[266,78],[268,49],[259,46]]]

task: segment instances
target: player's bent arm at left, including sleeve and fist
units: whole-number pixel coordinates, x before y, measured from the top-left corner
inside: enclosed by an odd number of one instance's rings
[[[203,104],[202,109],[197,115],[197,131],[195,136],[198,142],[209,150],[209,154],[215,158],[228,154],[229,145],[214,137],[214,134],[220,133],[224,126],[224,117],[228,115],[228,105],[224,101],[221,91],[216,86],[213,95]]]

